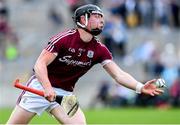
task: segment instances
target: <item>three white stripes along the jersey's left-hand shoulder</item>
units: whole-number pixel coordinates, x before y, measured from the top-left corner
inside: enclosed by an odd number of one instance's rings
[[[53,48],[54,48],[54,44],[56,44],[60,39],[66,37],[68,35],[74,34],[75,32],[76,32],[76,30],[68,30],[67,32],[64,32],[64,33],[61,33],[61,34],[55,36],[55,38],[50,40],[50,43],[46,47],[46,50],[51,52],[53,50]]]

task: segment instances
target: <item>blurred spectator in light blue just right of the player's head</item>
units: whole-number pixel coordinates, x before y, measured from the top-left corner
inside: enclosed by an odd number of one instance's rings
[[[104,42],[113,54],[118,53],[118,56],[123,58],[127,53],[126,27],[120,15],[112,14],[110,17],[111,20],[107,22],[103,32]]]

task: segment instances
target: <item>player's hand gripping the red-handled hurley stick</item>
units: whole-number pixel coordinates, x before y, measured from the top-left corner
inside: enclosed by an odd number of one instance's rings
[[[48,87],[48,88],[45,89],[45,91],[44,91],[44,97],[45,97],[48,101],[50,101],[50,102],[55,101],[55,99],[56,99],[56,93],[55,93],[55,91],[53,90],[52,87]]]

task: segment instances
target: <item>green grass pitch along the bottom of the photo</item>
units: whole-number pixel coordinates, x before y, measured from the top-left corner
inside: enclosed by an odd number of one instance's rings
[[[5,124],[12,109],[0,109],[0,124]],[[104,108],[84,110],[88,124],[180,124],[180,108]],[[31,124],[57,124],[47,113]]]

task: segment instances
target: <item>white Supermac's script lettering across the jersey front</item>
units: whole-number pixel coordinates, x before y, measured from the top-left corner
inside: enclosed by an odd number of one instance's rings
[[[78,60],[73,60],[72,56],[63,56],[62,58],[59,58],[59,61],[64,62],[67,65],[80,66],[80,67],[85,67],[85,66],[91,65],[91,60],[89,62],[82,62],[82,61],[78,61]]]

